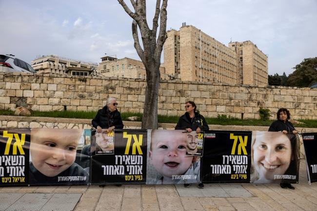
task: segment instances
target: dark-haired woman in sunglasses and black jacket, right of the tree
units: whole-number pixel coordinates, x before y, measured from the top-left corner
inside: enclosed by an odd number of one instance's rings
[[[208,124],[198,111],[196,111],[197,106],[194,101],[187,101],[185,103],[186,113],[179,117],[178,123],[175,127],[175,130],[186,130],[187,133],[196,131],[199,134],[203,130],[209,130]],[[184,184],[184,187],[189,187],[190,184]],[[203,189],[204,184],[202,182],[198,183],[198,188]]]

